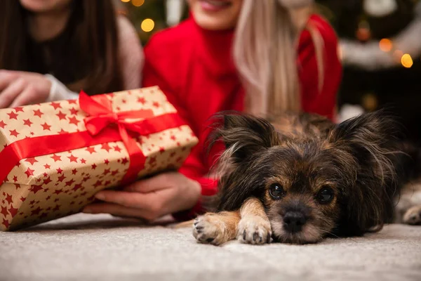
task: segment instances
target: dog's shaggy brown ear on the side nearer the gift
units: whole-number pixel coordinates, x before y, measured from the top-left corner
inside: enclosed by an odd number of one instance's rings
[[[255,161],[256,157],[277,145],[279,136],[272,124],[262,118],[237,112],[223,113],[215,118],[208,148],[219,141],[225,145],[215,171],[219,185],[216,208],[234,210],[259,189],[262,180],[255,175],[259,173],[250,173],[250,169],[262,169]]]

